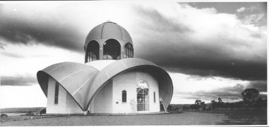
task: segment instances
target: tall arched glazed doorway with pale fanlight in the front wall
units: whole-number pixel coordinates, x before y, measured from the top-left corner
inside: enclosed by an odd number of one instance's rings
[[[136,87],[137,111],[149,111],[149,86],[146,81],[140,80]]]

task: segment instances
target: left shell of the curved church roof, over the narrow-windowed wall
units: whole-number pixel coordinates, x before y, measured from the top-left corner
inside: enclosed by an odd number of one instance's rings
[[[60,62],[38,71],[37,80],[47,97],[49,76],[52,77],[59,82],[83,110],[87,105],[85,100],[91,81],[98,72],[97,69],[85,64]]]

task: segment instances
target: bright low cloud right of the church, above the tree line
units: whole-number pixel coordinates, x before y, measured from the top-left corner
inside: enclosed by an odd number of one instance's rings
[[[174,94],[171,103],[194,103],[201,99],[206,103],[221,97],[225,102],[241,101],[241,92],[253,87],[254,82],[222,77],[190,76],[169,73],[173,80]],[[261,84],[261,82],[257,83]],[[262,85],[263,90],[266,85]]]

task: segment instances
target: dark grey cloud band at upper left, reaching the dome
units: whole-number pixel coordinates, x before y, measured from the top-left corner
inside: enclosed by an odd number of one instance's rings
[[[40,16],[44,13],[38,12],[22,17],[20,15],[22,12],[4,13],[7,10],[2,9],[0,8],[0,37],[6,39],[8,43],[43,44],[83,52],[86,35],[81,34],[73,24],[64,21],[64,18],[59,21],[53,16],[46,18],[47,14]],[[63,10],[59,9],[59,11]],[[1,47],[4,48],[3,45]]]

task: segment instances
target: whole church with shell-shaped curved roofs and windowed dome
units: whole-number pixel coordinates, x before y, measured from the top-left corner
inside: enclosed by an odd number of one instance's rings
[[[134,48],[130,34],[116,23],[94,27],[85,41],[85,64],[60,62],[37,72],[47,114],[167,111],[171,77],[153,62],[134,58]]]

